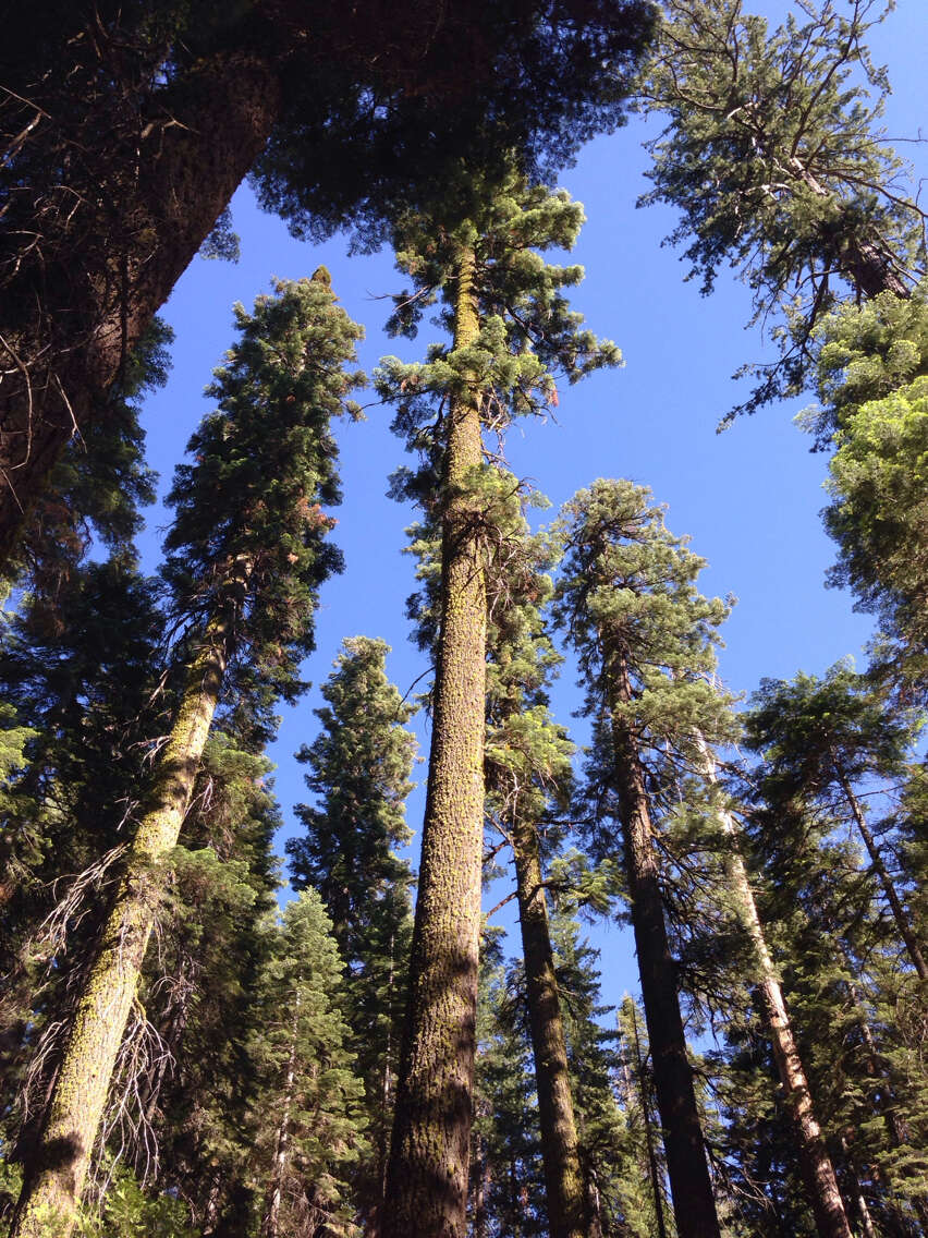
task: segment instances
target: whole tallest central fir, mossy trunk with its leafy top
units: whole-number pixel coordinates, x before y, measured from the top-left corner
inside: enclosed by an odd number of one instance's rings
[[[440,522],[440,603],[428,792],[422,838],[411,1003],[403,1040],[387,1185],[387,1234],[417,1226],[462,1233],[468,1187],[470,1091],[484,823],[486,563],[496,510],[511,484],[484,464],[483,431],[542,411],[556,375],[575,381],[615,364],[612,344],[580,329],[562,288],[577,266],[549,266],[538,249],[569,246],[582,220],[565,193],[501,184],[462,170],[431,214],[397,229],[412,293],[397,297],[395,329],[412,333],[440,295],[450,348],[426,363],[389,358],[377,387],[395,400],[396,428],[424,456],[397,479]],[[443,1184],[439,1188],[437,1184]]]

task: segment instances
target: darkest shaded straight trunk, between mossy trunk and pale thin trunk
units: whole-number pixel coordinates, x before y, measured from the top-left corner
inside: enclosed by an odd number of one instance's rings
[[[631,701],[627,656],[621,649],[615,650],[610,662],[612,704],[627,704]],[[617,714],[612,719],[612,742],[631,922],[677,1232],[679,1238],[719,1238],[693,1071],[687,1057],[677,968],[663,917],[645,777],[632,729]]]

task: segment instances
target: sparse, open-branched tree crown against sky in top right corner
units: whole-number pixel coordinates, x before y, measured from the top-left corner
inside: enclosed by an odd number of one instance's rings
[[[803,390],[812,331],[835,300],[848,287],[904,296],[924,249],[923,212],[880,128],[886,72],[866,45],[887,10],[801,7],[771,30],[741,0],[666,0],[642,76],[641,105],[664,124],[642,204],[681,210],[669,240],[689,243],[703,292],[729,265],[754,291],[755,322],[775,314],[782,357],[746,366],[758,384],[734,412]]]

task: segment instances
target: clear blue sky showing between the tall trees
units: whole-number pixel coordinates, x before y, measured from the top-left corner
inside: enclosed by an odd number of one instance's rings
[[[787,6],[767,0],[746,7],[777,17]],[[924,0],[900,0],[871,40],[875,58],[888,64],[893,83],[886,115],[892,137],[916,137],[922,124],[926,36]],[[750,693],[762,676],[792,676],[801,669],[822,672],[846,654],[861,657],[870,623],[853,613],[846,595],[823,586],[833,561],[818,516],[827,458],[810,454],[808,439],[792,423],[806,401],[770,407],[723,435],[715,432],[737,399],[730,375],[744,361],[761,358],[763,344],[756,329],[744,329],[749,297],[734,280],[723,275],[710,298],[700,297],[695,284],[683,282],[685,267],[678,255],[661,248],[674,214],[635,209],[646,188],[645,136],[641,121],[632,119],[624,130],[588,146],[561,178],[584,203],[588,217],[574,251],[586,280],[573,303],[593,331],[620,345],[626,365],[564,392],[557,423],[515,428],[507,454],[512,469],[532,477],[556,506],[596,477],[627,477],[650,485],[668,504],[668,527],[690,535],[693,550],[708,560],[703,592],[734,593],[739,599],[726,625],[720,671],[730,688]],[[901,151],[924,171],[923,147],[903,145]],[[344,238],[322,246],[297,243],[278,219],[257,210],[247,187],[235,196],[233,214],[241,260],[228,265],[195,259],[163,311],[177,335],[173,371],[145,413],[148,457],[161,473],[162,493],[208,411],[200,392],[234,338],[231,305],[241,301],[250,307],[267,291],[271,276],[298,279],[324,262],[345,310],[366,328],[360,363],[369,371],[387,353],[423,355],[439,335],[428,326],[412,343],[382,334],[390,302],[380,298],[403,284],[389,254],[349,259]],[[361,399],[372,400],[372,392]],[[334,537],[345,553],[346,571],[322,594],[318,650],[304,670],[316,685],[329,673],[343,638],[359,634],[380,636],[392,646],[387,670],[401,691],[424,670],[408,641],[403,610],[413,581],[412,563],[401,548],[403,529],[415,514],[385,496],[387,474],[403,462],[402,446],[389,430],[391,416],[390,409],[375,405],[367,409],[366,422],[337,431],[345,498],[335,511]],[[166,519],[156,510],[148,520],[142,543],[146,568],[153,569],[158,561],[158,529]],[[572,724],[578,703],[567,667],[554,697],[561,721]],[[292,806],[304,797],[302,770],[292,754],[314,737],[311,711],[318,704],[313,690],[285,711],[271,751],[285,837],[296,832]],[[422,719],[418,728],[427,754]],[[418,776],[424,781],[424,766]],[[408,820],[416,831],[422,803],[422,791],[413,792]],[[418,836],[413,862],[417,848]],[[501,896],[494,889],[488,906]],[[629,935],[616,927],[598,930],[594,942],[603,951],[608,1000],[637,992]],[[515,948],[511,942],[511,952]]]

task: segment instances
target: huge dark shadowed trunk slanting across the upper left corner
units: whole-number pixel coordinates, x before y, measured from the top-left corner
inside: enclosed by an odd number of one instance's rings
[[[126,354],[261,151],[280,110],[277,72],[270,59],[223,53],[156,94],[153,114],[139,120],[137,167],[101,187],[105,215],[83,219],[78,239],[57,240],[36,288],[17,287],[19,308],[31,314],[22,338],[37,359],[28,376],[25,360],[9,350],[4,360],[0,567],[66,444],[105,416]]]

